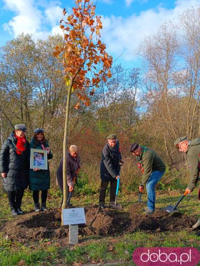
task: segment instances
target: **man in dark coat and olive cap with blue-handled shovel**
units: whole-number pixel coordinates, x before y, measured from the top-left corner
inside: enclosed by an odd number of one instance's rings
[[[100,164],[101,187],[99,195],[99,206],[104,209],[105,196],[108,182],[110,181],[110,202],[115,201],[117,179],[120,178],[120,165],[123,164],[119,142],[115,134],[110,134],[108,142],[103,148]]]

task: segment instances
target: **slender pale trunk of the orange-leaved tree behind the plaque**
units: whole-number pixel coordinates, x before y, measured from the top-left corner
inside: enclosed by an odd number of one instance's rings
[[[61,224],[63,225],[63,210],[67,206],[68,190],[67,190],[67,140],[68,140],[68,124],[69,124],[69,108],[70,108],[70,98],[72,91],[73,82],[70,80],[70,85],[68,87],[68,99],[65,115],[65,130],[63,138],[63,204],[62,204],[62,214],[61,214]]]

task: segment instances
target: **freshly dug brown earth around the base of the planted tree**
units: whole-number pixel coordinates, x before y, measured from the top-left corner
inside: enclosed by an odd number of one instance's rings
[[[142,230],[150,233],[180,231],[190,228],[197,220],[194,216],[181,213],[168,215],[155,211],[153,215],[144,215],[143,204],[134,204],[130,212],[101,210],[99,207],[85,208],[86,225],[79,225],[79,235],[112,236]],[[61,211],[51,209],[39,213],[19,215],[5,223],[1,232],[8,239],[20,242],[36,239],[66,239],[68,226],[61,226]]]

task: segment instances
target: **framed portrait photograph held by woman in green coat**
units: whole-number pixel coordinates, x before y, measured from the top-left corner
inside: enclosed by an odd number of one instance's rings
[[[47,170],[47,151],[39,149],[31,149],[31,169],[39,168]]]

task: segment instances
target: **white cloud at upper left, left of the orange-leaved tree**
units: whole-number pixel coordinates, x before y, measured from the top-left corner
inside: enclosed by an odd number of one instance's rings
[[[35,0],[3,0],[5,8],[14,11],[16,16],[3,24],[6,31],[16,37],[24,32],[33,35],[34,39],[46,39],[48,35],[61,33],[59,21],[62,17],[63,8],[58,2],[45,3],[46,9],[42,12],[36,5]],[[43,6],[44,7],[44,3]]]

